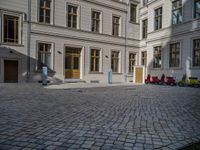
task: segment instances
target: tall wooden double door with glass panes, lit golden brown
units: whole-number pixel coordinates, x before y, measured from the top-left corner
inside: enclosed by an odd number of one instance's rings
[[[66,47],[65,49],[65,78],[80,79],[80,48]]]

